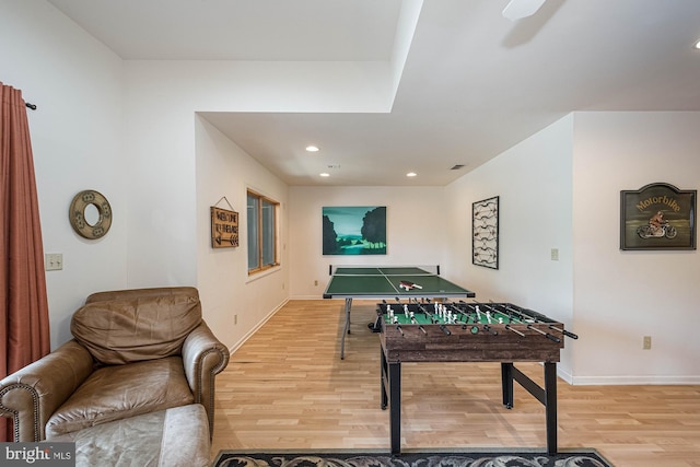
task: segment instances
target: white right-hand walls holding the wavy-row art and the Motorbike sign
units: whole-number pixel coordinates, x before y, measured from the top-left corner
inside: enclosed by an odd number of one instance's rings
[[[559,365],[573,384],[698,384],[697,250],[619,249],[620,190],[698,189],[698,128],[700,113],[567,116],[446,188],[444,264],[477,299],[523,304],[576,332]],[[499,270],[470,261],[471,202],[491,196]]]

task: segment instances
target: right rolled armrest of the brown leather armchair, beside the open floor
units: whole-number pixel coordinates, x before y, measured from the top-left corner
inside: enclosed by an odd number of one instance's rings
[[[183,343],[183,364],[195,402],[201,404],[209,418],[209,436],[214,425],[214,376],[229,364],[229,349],[217,339],[202,320]]]

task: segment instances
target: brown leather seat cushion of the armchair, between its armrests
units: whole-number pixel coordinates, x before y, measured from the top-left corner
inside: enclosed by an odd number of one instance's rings
[[[194,401],[179,357],[103,366],[51,415],[46,439]]]

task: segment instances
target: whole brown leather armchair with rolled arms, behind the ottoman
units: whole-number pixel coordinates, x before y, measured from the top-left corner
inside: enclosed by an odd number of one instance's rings
[[[195,288],[92,294],[71,319],[73,339],[0,382],[14,441],[43,441],[96,424],[201,404],[213,432],[214,376],[229,350],[201,317]]]

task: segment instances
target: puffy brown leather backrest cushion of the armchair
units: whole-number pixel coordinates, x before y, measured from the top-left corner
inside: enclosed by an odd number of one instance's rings
[[[98,363],[110,365],[180,354],[200,323],[197,289],[136,289],[90,295],[70,329]]]

